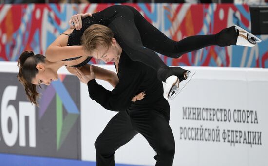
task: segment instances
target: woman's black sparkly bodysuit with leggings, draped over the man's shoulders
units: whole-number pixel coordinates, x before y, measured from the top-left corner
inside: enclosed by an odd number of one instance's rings
[[[154,52],[178,58],[184,53],[198,50],[210,45],[235,45],[237,32],[234,27],[226,28],[216,35],[190,36],[181,41],[173,41],[149,23],[131,6],[115,5],[92,17],[82,20],[81,30],[74,30],[68,39],[68,46],[81,45],[81,36],[92,24],[105,25],[115,33],[115,39],[133,61],[142,62],[157,71],[157,77],[165,81],[176,75],[181,80],[186,70],[180,67],[168,67]]]

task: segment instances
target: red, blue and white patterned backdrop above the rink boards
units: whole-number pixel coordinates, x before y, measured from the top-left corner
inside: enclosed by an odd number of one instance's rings
[[[1,5],[0,61],[16,61],[23,50],[45,54],[47,47],[70,27],[68,22],[72,15],[96,13],[112,5],[114,4]],[[175,41],[192,35],[216,34],[235,24],[251,31],[248,4],[127,3],[126,5],[133,6],[148,22]],[[255,21],[260,20],[256,18]],[[169,66],[268,68],[268,37],[267,35],[258,37],[262,42],[255,47],[209,46],[189,52],[180,59],[163,55],[160,57]],[[104,64],[94,59],[91,63]]]

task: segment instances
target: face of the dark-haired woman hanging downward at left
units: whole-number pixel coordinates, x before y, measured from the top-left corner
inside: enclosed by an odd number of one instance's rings
[[[53,71],[52,69],[45,68],[44,64],[38,64],[36,66],[38,69],[38,74],[36,77],[33,78],[32,83],[36,85],[45,84],[50,85],[52,81],[57,80],[57,72]]]

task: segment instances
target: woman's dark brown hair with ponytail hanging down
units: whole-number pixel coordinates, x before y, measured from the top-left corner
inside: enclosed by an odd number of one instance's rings
[[[24,51],[20,55],[17,64],[17,66],[19,67],[19,73],[17,75],[17,78],[19,82],[24,86],[28,100],[30,100],[32,104],[35,104],[37,106],[38,103],[36,100],[39,96],[39,93],[36,90],[37,85],[32,84],[31,82],[33,78],[36,77],[36,74],[38,74],[39,72],[36,68],[36,65],[39,62],[44,61],[45,56],[40,54],[35,55],[32,51]]]

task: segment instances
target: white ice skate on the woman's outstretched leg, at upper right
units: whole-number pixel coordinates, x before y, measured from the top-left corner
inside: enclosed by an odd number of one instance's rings
[[[253,47],[257,43],[262,42],[262,40],[259,39],[254,34],[249,33],[248,31],[244,30],[243,28],[241,28],[237,25],[234,25],[234,26],[235,26],[235,30],[238,31],[238,33],[239,33],[239,35],[237,37],[236,45]]]

